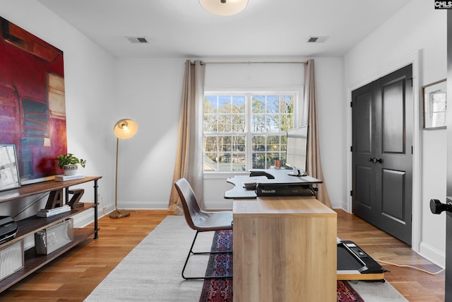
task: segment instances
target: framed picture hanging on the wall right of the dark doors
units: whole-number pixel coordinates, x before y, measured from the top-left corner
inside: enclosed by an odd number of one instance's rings
[[[424,129],[446,128],[446,79],[422,86]]]

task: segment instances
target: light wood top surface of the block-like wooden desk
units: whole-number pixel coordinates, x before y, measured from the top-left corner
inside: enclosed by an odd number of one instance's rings
[[[254,200],[234,200],[234,216],[337,216],[336,212],[326,207],[314,197],[257,197]]]

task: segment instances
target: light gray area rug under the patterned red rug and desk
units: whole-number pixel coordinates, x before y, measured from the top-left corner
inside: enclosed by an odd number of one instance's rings
[[[181,276],[195,233],[184,216],[167,216],[85,301],[199,301],[203,280],[185,281]],[[200,233],[194,250],[210,250],[212,239],[213,232]],[[207,262],[208,255],[191,257],[186,276],[203,275]],[[407,301],[388,282],[351,285],[366,302]]]

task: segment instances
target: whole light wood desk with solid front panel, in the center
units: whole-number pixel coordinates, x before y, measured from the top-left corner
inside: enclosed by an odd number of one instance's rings
[[[234,301],[337,301],[337,214],[314,197],[234,200]]]

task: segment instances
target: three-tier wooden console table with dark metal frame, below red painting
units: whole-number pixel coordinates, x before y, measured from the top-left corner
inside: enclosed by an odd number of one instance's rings
[[[18,232],[16,233],[16,237],[12,240],[3,243],[0,245],[0,248],[6,248],[8,245],[16,243],[18,240],[23,240],[23,238],[31,236],[37,231],[41,231],[49,226],[53,226],[54,224],[60,223],[71,216],[74,216],[82,211],[86,211],[88,209],[94,209],[94,228],[74,228],[73,229],[73,241],[64,247],[55,250],[54,252],[48,255],[36,255],[35,248],[30,248],[25,251],[25,262],[23,269],[20,269],[18,272],[11,274],[5,279],[0,281],[0,292],[8,289],[8,287],[16,284],[21,279],[28,277],[28,275],[35,272],[40,267],[43,267],[47,263],[56,259],[60,255],[64,254],[64,252],[70,250],[74,246],[81,243],[83,240],[88,238],[91,235],[94,235],[94,239],[97,239],[97,180],[102,178],[102,176],[90,176],[85,177],[78,180],[67,180],[67,181],[55,181],[49,180],[46,182],[39,182],[32,185],[23,185],[22,187],[18,187],[16,189],[6,190],[0,192],[0,203],[3,202],[13,202],[14,200],[21,199],[24,197],[29,197],[36,194],[42,194],[47,192],[54,192],[58,190],[65,191],[65,200],[66,203],[69,201],[69,187],[74,185],[80,185],[85,182],[94,182],[94,202],[93,203],[85,203],[82,207],[77,207],[72,209],[71,211],[58,214],[55,216],[42,218],[37,216],[30,216],[26,219],[16,221],[18,225]]]

